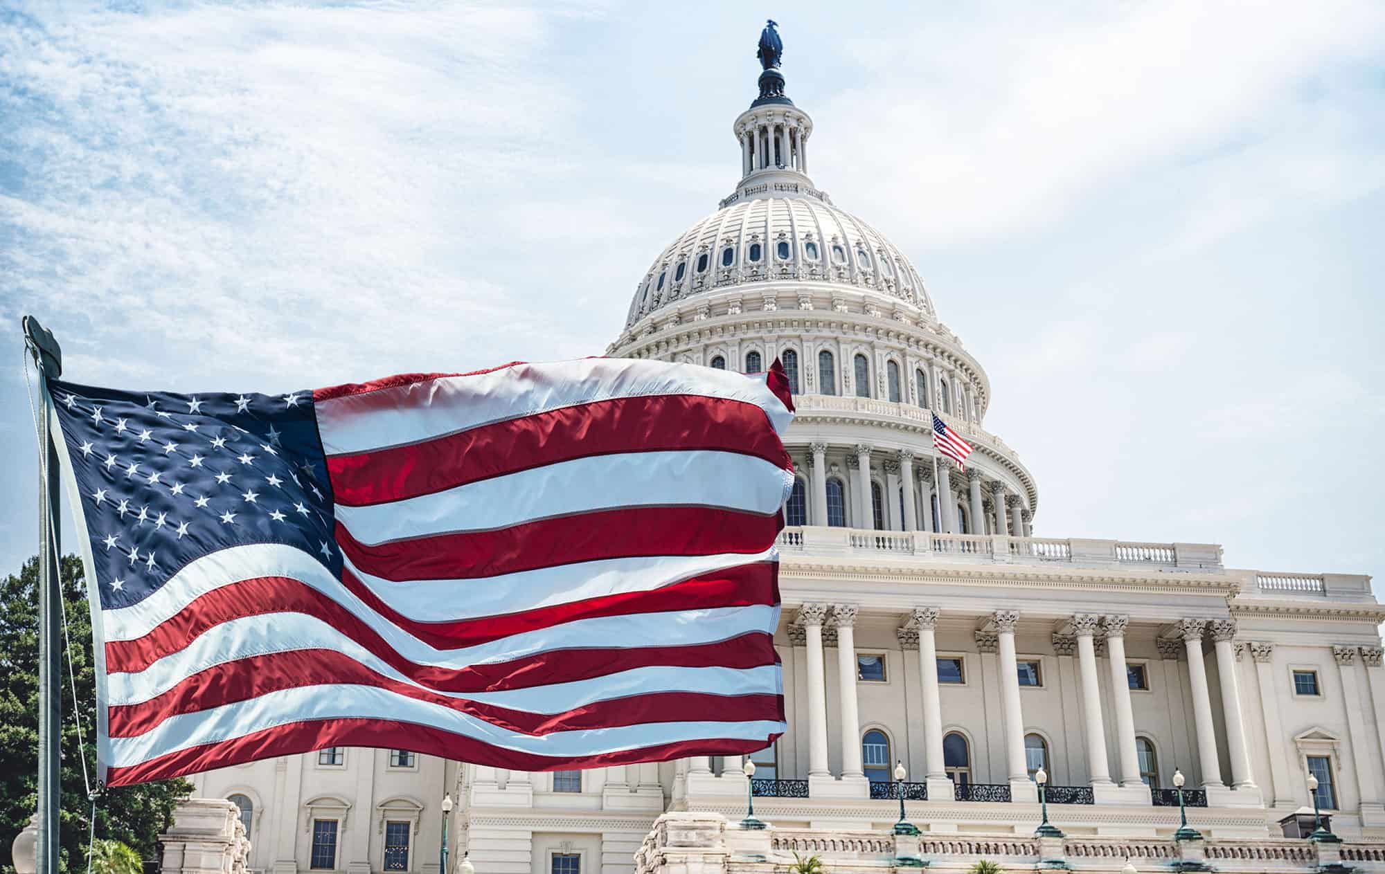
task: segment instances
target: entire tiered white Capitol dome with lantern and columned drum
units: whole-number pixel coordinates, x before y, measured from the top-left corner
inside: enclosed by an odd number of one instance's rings
[[[909,257],[813,183],[813,119],[784,93],[777,57],[763,66],[731,126],[734,191],[638,277],[608,354],[747,373],[784,364],[798,407],[789,541],[796,526],[956,535],[933,545],[945,550],[1030,535],[1039,490],[983,427],[985,369],[938,321]],[[964,469],[935,454],[933,416],[971,444]]]

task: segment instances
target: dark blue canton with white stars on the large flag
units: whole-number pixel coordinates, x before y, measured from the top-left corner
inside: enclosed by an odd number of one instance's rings
[[[104,608],[138,603],[190,561],[241,543],[298,546],[339,575],[312,391],[48,387]]]

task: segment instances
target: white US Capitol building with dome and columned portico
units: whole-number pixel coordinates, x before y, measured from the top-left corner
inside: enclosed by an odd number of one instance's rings
[[[986,371],[904,253],[809,176],[780,51],[770,26],[731,124],[738,181],[638,277],[608,354],[784,364],[788,733],[753,779],[740,758],[526,773],[363,748],[195,777],[237,805],[248,867],[439,874],[446,819],[449,868],[482,874],[771,874],[792,852],[830,871],[1385,871],[1370,578],[1039,534],[1033,474],[986,430]],[[932,413],[975,448],[965,472],[933,458]],[[1040,769],[1057,838],[1035,835]],[[1197,839],[1173,839],[1176,773]],[[1296,837],[1310,776],[1343,844]],[[769,828],[738,826],[748,791]],[[892,828],[897,794],[921,835]]]

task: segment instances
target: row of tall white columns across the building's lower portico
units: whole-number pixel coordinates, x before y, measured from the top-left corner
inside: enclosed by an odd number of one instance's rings
[[[807,741],[810,792],[837,783],[827,761],[827,693],[823,629],[835,629],[838,689],[841,690],[841,784],[864,784],[861,770],[861,723],[856,701],[856,651],[853,629],[857,617],[855,604],[803,604],[798,613],[802,635],[795,636],[806,647],[807,665]],[[951,797],[943,759],[942,698],[938,682],[938,644],[935,631],[936,607],[914,608],[900,628],[900,643],[914,649],[917,640],[918,668],[922,686],[924,779],[929,783],[929,798]],[[985,618],[976,631],[976,642],[983,653],[999,657],[1000,701],[1004,738],[1004,774],[1015,801],[1035,799],[1036,790],[1029,779],[1025,755],[1025,718],[1019,691],[1018,657],[1015,650],[1017,610],[997,610]],[[1125,615],[1076,614],[1064,620],[1054,631],[1053,642],[1060,656],[1076,656],[1082,714],[1086,722],[1087,770],[1098,803],[1150,803],[1140,772],[1136,745],[1134,711],[1126,668],[1125,635],[1129,618]],[[1212,720],[1212,701],[1202,658],[1202,638],[1210,631],[1222,686],[1222,705],[1226,715],[1226,740],[1230,751],[1230,772],[1235,788],[1255,790],[1251,761],[1237,689],[1233,638],[1235,622],[1230,620],[1181,620],[1174,625],[1187,650],[1188,683],[1192,693],[1198,759],[1204,787],[1223,787],[1217,738]],[[1112,779],[1107,758],[1105,714],[1101,705],[1101,676],[1097,665],[1097,643],[1104,642],[1109,671],[1107,680],[1111,709],[1115,719],[1116,779]],[[1168,639],[1172,643],[1172,639]],[[1162,649],[1162,647],[1161,647]],[[1132,791],[1126,791],[1132,790]],[[1033,797],[1033,798],[1030,798]],[[1258,798],[1256,798],[1258,802]]]

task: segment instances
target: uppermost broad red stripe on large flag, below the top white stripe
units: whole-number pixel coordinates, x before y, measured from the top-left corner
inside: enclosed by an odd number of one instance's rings
[[[794,469],[760,407],[661,394],[564,407],[422,443],[330,456],[327,470],[337,503],[363,506],[575,458],[669,449],[741,452]]]

